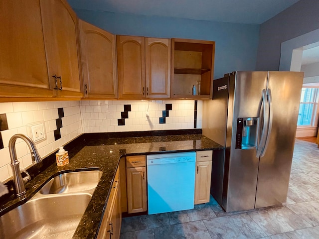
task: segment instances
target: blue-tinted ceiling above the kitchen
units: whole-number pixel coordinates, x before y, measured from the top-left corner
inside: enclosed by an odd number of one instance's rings
[[[75,9],[261,24],[299,0],[68,0]]]

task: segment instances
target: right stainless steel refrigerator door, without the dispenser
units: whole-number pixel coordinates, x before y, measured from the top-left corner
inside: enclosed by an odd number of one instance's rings
[[[260,158],[255,208],[286,202],[303,78],[303,72],[269,72],[272,129]]]

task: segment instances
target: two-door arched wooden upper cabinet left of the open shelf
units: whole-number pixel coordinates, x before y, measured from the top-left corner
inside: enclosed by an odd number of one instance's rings
[[[117,35],[120,99],[170,97],[170,39]]]

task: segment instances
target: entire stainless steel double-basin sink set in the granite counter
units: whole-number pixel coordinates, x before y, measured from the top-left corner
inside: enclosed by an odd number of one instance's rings
[[[72,238],[102,171],[77,171],[50,179],[29,201],[0,217],[1,239]]]

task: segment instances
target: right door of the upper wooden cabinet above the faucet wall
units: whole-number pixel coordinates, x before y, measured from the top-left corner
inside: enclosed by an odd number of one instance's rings
[[[83,97],[78,59],[78,21],[66,0],[41,0],[43,36],[48,61],[49,77],[57,80],[57,96]],[[62,83],[62,86],[61,84]]]

